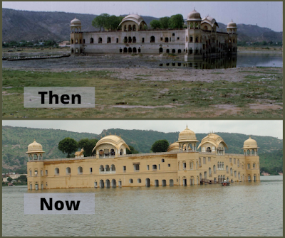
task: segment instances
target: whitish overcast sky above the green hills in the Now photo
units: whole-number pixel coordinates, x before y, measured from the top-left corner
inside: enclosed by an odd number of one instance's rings
[[[233,132],[283,139],[281,120],[3,120],[2,125],[62,129],[94,134],[113,128],[176,132],[183,131],[188,126],[195,133]]]

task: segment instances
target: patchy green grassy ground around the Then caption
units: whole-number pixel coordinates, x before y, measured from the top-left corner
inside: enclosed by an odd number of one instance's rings
[[[108,70],[4,69],[2,112],[4,118],[281,118],[281,72],[281,69],[267,67],[241,70],[239,73],[246,75],[242,82],[154,82],[148,80],[147,75],[119,80]],[[64,86],[95,87],[95,109],[24,108],[24,87]]]

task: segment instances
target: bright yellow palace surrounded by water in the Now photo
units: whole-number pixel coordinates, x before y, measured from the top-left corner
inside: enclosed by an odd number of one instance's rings
[[[225,153],[227,144],[217,134],[208,134],[198,145],[186,128],[164,153],[127,154],[129,146],[116,135],[100,139],[94,156],[43,159],[43,147],[28,145],[28,189],[115,188],[132,186],[198,185],[259,181],[257,141],[244,141],[243,154]],[[198,151],[200,150],[200,151]]]

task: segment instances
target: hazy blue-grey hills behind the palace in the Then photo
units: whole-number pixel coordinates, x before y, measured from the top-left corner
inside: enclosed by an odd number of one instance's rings
[[[2,40],[68,40],[70,22],[78,18],[82,23],[82,31],[98,31],[91,25],[97,15],[46,12],[46,11],[19,11],[2,9]],[[126,15],[122,15],[126,16]],[[150,21],[158,19],[152,16],[142,16],[148,26]],[[219,23],[218,31],[225,32],[226,25]],[[240,41],[282,41],[282,33],[271,31],[253,25],[238,24],[238,40]]]

